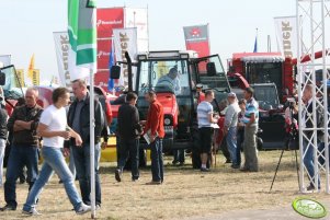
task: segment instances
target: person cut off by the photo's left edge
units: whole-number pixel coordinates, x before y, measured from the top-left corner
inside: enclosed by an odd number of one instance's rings
[[[0,101],[3,100],[3,96],[0,95]],[[4,109],[4,105],[1,103],[0,107],[0,186],[2,186],[2,176],[3,176],[3,158],[4,158],[4,149],[7,142],[7,119],[8,114]]]

